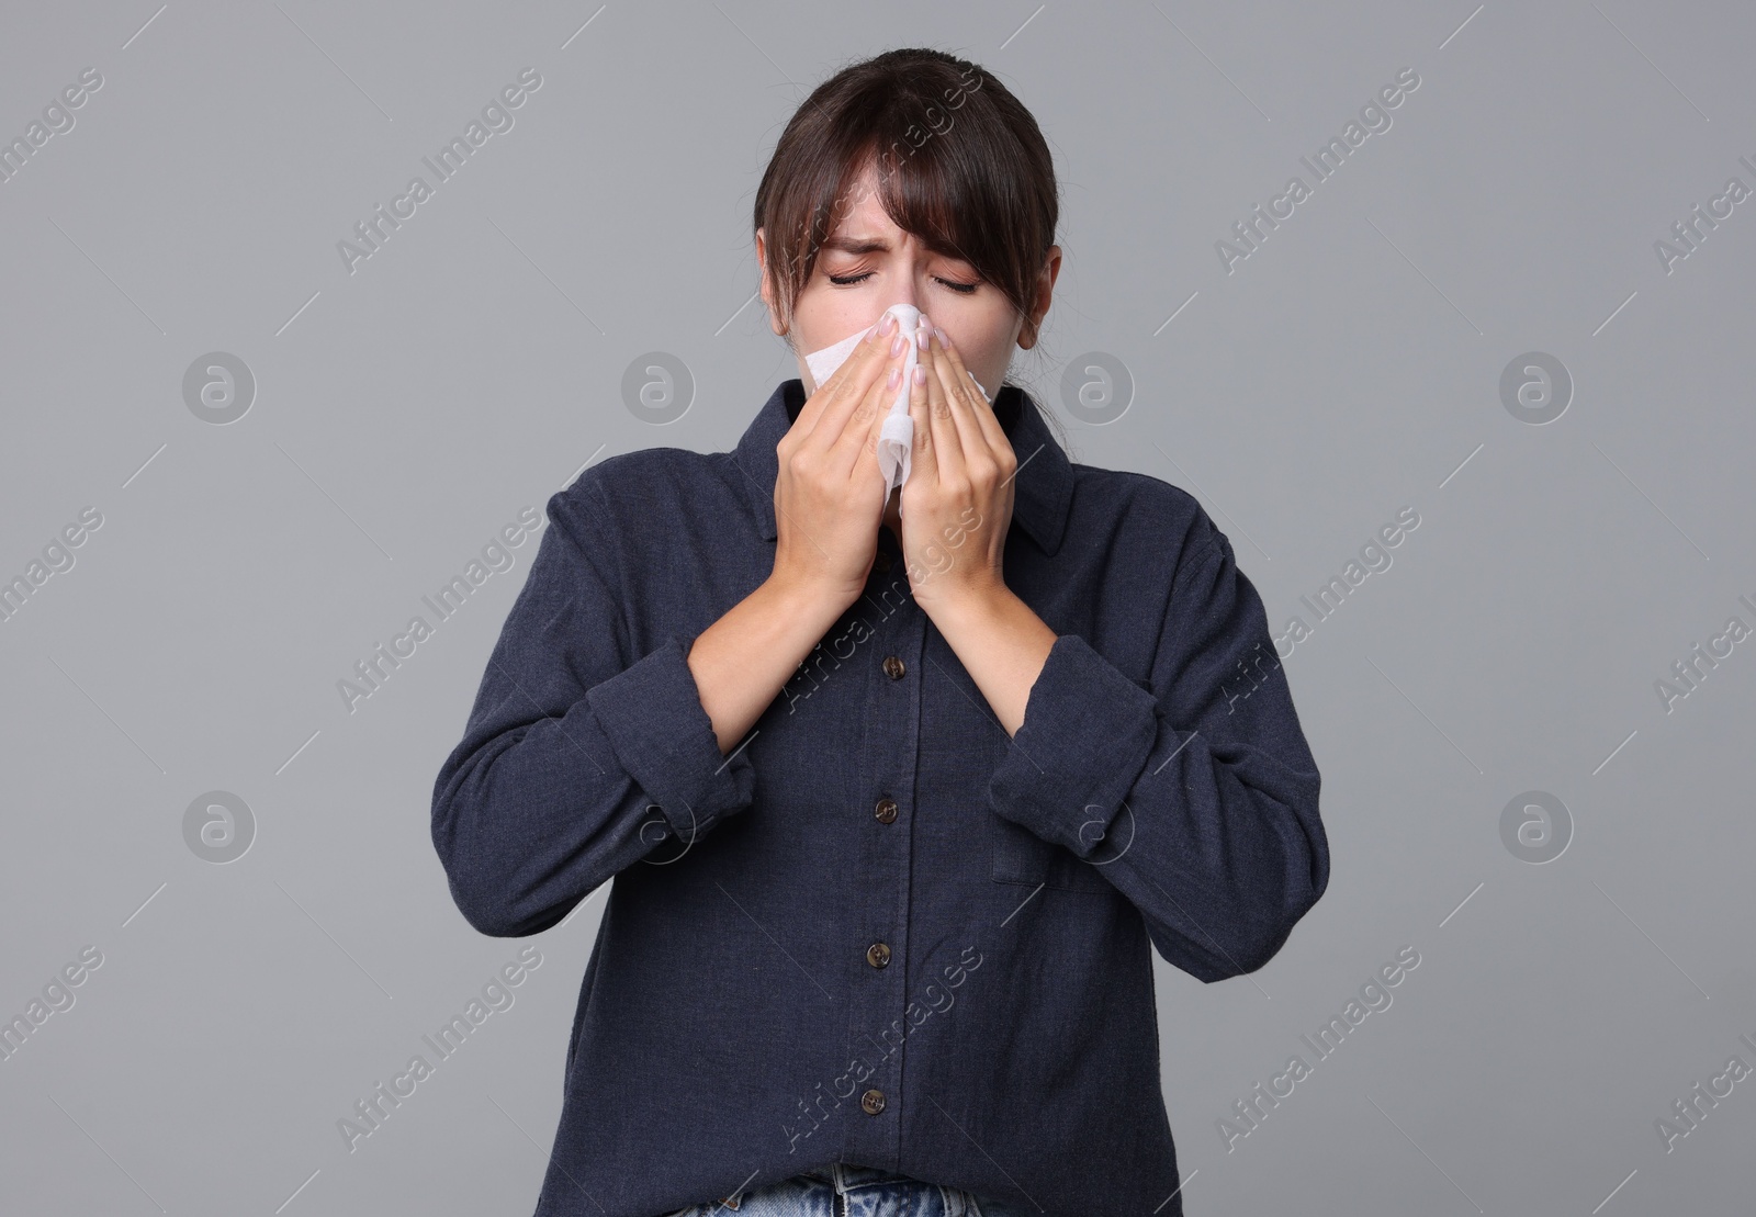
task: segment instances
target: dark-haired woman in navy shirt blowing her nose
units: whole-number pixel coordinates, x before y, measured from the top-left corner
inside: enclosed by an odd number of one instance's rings
[[[615,878],[539,1217],[1182,1212],[1148,947],[1261,968],[1329,855],[1231,544],[1004,383],[1055,216],[980,67],[836,74],[755,200],[799,379],[550,500],[432,808],[481,933]]]

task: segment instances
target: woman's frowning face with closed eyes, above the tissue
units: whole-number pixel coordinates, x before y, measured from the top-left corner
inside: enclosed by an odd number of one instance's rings
[[[1048,293],[1061,270],[1061,246],[1048,251],[1031,325],[1026,327],[1026,320],[1013,311],[999,288],[980,281],[975,267],[961,258],[929,251],[918,237],[896,227],[878,200],[871,169],[855,184],[853,198],[857,202],[829,234],[817,255],[810,283],[794,300],[794,325],[787,337],[794,355],[799,356],[804,392],[808,395],[817,392],[811,369],[804,362],[806,353],[834,346],[855,330],[873,325],[892,304],[913,304],[920,309],[927,321],[945,330],[952,346],[962,355],[964,367],[989,393],[997,392],[1006,378],[1013,346],[1029,349],[1036,342],[1036,327],[1048,311]],[[762,232],[757,232],[757,262],[764,267],[762,299],[771,306],[769,323],[776,334],[783,334],[769,297]],[[1022,342],[1020,334],[1024,334]]]

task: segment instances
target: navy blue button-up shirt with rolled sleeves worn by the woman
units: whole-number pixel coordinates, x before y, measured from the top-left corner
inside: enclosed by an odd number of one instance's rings
[[[723,755],[687,655],[773,572],[802,402],[783,381],[736,450],[622,453],[550,499],[434,785],[483,934],[613,880],[537,1217],[831,1161],[1178,1217],[1150,950],[1254,971],[1329,880],[1263,602],[1189,493],[1069,464],[1008,385],[1004,578],[1057,634],[1017,736],[882,529],[866,594]]]

